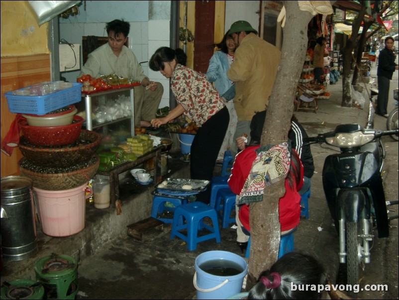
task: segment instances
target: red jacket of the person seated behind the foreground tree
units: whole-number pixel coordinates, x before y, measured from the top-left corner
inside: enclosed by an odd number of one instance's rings
[[[259,146],[248,147],[236,155],[233,167],[231,168],[231,175],[228,179],[228,185],[233,193],[237,195],[240,194],[241,189],[244,186],[245,180],[247,179],[249,172],[251,171],[252,162],[256,158],[255,150],[258,148]],[[294,149],[292,149],[292,151],[295,152]],[[295,155],[295,153],[293,154]],[[293,166],[292,159],[291,165]],[[281,226],[280,230],[282,232],[293,229],[299,224],[300,195],[298,191],[303,184],[303,167],[301,163],[299,181],[300,183],[297,185],[294,180],[293,188],[291,188],[288,179],[285,179],[286,193],[279,200],[279,219]],[[238,213],[238,218],[240,219],[240,222],[242,223],[244,228],[250,231],[248,205],[242,205]]]

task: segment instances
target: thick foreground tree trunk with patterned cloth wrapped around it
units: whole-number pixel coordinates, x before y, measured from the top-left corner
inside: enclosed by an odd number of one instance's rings
[[[312,18],[299,10],[297,1],[284,1],[286,23],[281,62],[269,100],[261,146],[288,141],[294,98],[307,48],[307,25]],[[259,274],[277,260],[280,246],[279,199],[285,193],[284,180],[265,188],[263,201],[250,205],[251,248],[247,290]]]

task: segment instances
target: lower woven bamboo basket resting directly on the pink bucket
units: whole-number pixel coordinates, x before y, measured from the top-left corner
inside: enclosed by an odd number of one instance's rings
[[[21,158],[18,162],[19,170],[22,176],[26,176],[33,181],[33,186],[44,190],[66,190],[81,186],[85,184],[96,174],[100,164],[99,155],[93,155],[95,158],[94,163],[86,168],[78,169],[72,172],[59,172],[59,173],[39,173],[25,169],[21,166],[26,158]],[[37,166],[40,168],[41,166]],[[53,168],[56,169],[56,168]]]

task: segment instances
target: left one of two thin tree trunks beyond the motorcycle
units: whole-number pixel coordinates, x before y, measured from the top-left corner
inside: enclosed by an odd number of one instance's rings
[[[352,24],[352,34],[351,37],[346,42],[344,48],[342,48],[342,58],[343,58],[343,68],[342,68],[342,107],[352,107],[352,51],[357,45],[358,32],[360,29],[360,24],[366,14],[365,1],[360,1],[362,6],[359,10],[356,20]],[[358,72],[355,68],[354,72]]]

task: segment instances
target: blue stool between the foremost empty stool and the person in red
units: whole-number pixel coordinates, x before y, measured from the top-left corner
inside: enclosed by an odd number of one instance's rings
[[[235,223],[235,216],[230,218],[231,211],[235,211],[235,198],[236,194],[229,187],[217,191],[215,210],[222,221],[223,228],[227,228],[230,223]]]

